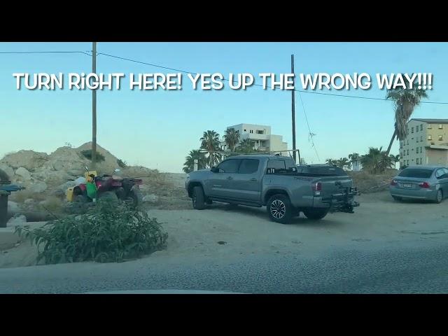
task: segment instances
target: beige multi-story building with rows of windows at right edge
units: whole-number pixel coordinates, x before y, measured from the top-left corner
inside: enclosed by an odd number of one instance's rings
[[[400,141],[400,167],[448,165],[448,119],[407,122],[407,137]]]

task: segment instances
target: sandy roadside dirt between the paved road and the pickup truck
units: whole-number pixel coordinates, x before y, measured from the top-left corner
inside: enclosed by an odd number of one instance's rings
[[[179,180],[180,181],[180,180]],[[167,249],[141,262],[200,262],[235,259],[257,253],[314,255],[325,248],[362,244],[386,246],[409,239],[441,239],[448,234],[448,200],[441,204],[395,202],[387,192],[358,197],[355,214],[329,214],[323,220],[303,216],[290,225],[269,221],[265,208],[212,204],[209,209],[151,209],[167,230]],[[0,253],[0,267],[34,265],[36,247],[22,242]]]

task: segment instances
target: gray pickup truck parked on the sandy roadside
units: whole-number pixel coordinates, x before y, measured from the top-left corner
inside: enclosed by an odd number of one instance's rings
[[[359,204],[354,202],[357,192],[351,178],[325,172],[298,172],[294,160],[284,156],[239,155],[217,167],[191,172],[186,190],[194,209],[213,201],[266,206],[272,221],[283,224],[300,212],[312,220],[328,212],[352,214]]]

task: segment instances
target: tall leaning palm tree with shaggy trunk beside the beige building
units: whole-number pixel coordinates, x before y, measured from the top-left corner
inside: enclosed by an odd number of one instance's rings
[[[386,155],[391,152],[391,147],[395,137],[398,140],[404,140],[407,137],[407,121],[411,118],[412,112],[416,106],[420,104],[421,99],[428,98],[426,90],[419,89],[419,83],[414,80],[412,88],[409,87],[403,89],[397,87],[395,89],[388,89],[386,99],[393,101],[393,107],[395,109],[395,130],[393,131],[391,142],[386,151]]]

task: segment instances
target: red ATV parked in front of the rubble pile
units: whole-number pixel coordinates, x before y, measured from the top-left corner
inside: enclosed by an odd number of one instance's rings
[[[97,172],[89,171],[87,167],[85,167],[85,170],[86,179],[93,179],[97,186],[98,198],[108,197],[110,200],[122,200],[123,202],[134,205],[134,207],[139,206],[143,202],[139,188],[143,184],[141,179],[122,178],[116,174],[112,176],[108,174],[97,176]],[[114,173],[117,172],[120,172],[120,169],[114,170]],[[71,200],[81,204],[92,202],[92,199],[87,196],[85,183],[81,183],[73,188]]]

